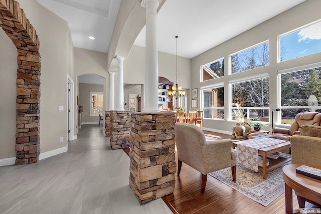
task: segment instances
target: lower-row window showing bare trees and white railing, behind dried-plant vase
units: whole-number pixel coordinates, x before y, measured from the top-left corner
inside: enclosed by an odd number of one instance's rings
[[[238,103],[249,120],[269,121],[269,78],[261,77],[231,84],[232,104]],[[235,105],[231,109],[236,109]],[[232,113],[232,119],[233,113]]]

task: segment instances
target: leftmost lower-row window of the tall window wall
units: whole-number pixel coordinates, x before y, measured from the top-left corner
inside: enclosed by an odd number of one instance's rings
[[[224,119],[224,87],[202,90],[204,118]]]

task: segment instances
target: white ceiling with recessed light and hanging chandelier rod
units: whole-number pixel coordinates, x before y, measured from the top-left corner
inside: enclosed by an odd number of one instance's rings
[[[75,47],[107,52],[121,0],[37,1],[68,22]],[[304,1],[167,0],[157,14],[158,50],[175,55],[179,36],[178,55],[193,58]],[[134,44],[145,46],[145,29]]]

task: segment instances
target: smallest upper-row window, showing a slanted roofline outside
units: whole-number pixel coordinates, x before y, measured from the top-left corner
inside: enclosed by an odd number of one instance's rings
[[[224,59],[201,67],[201,82],[224,76]]]

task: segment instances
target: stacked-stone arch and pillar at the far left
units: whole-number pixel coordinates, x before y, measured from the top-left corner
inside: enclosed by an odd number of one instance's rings
[[[36,30],[16,1],[0,0],[0,27],[18,51],[16,164],[34,163],[40,154],[39,40]]]

